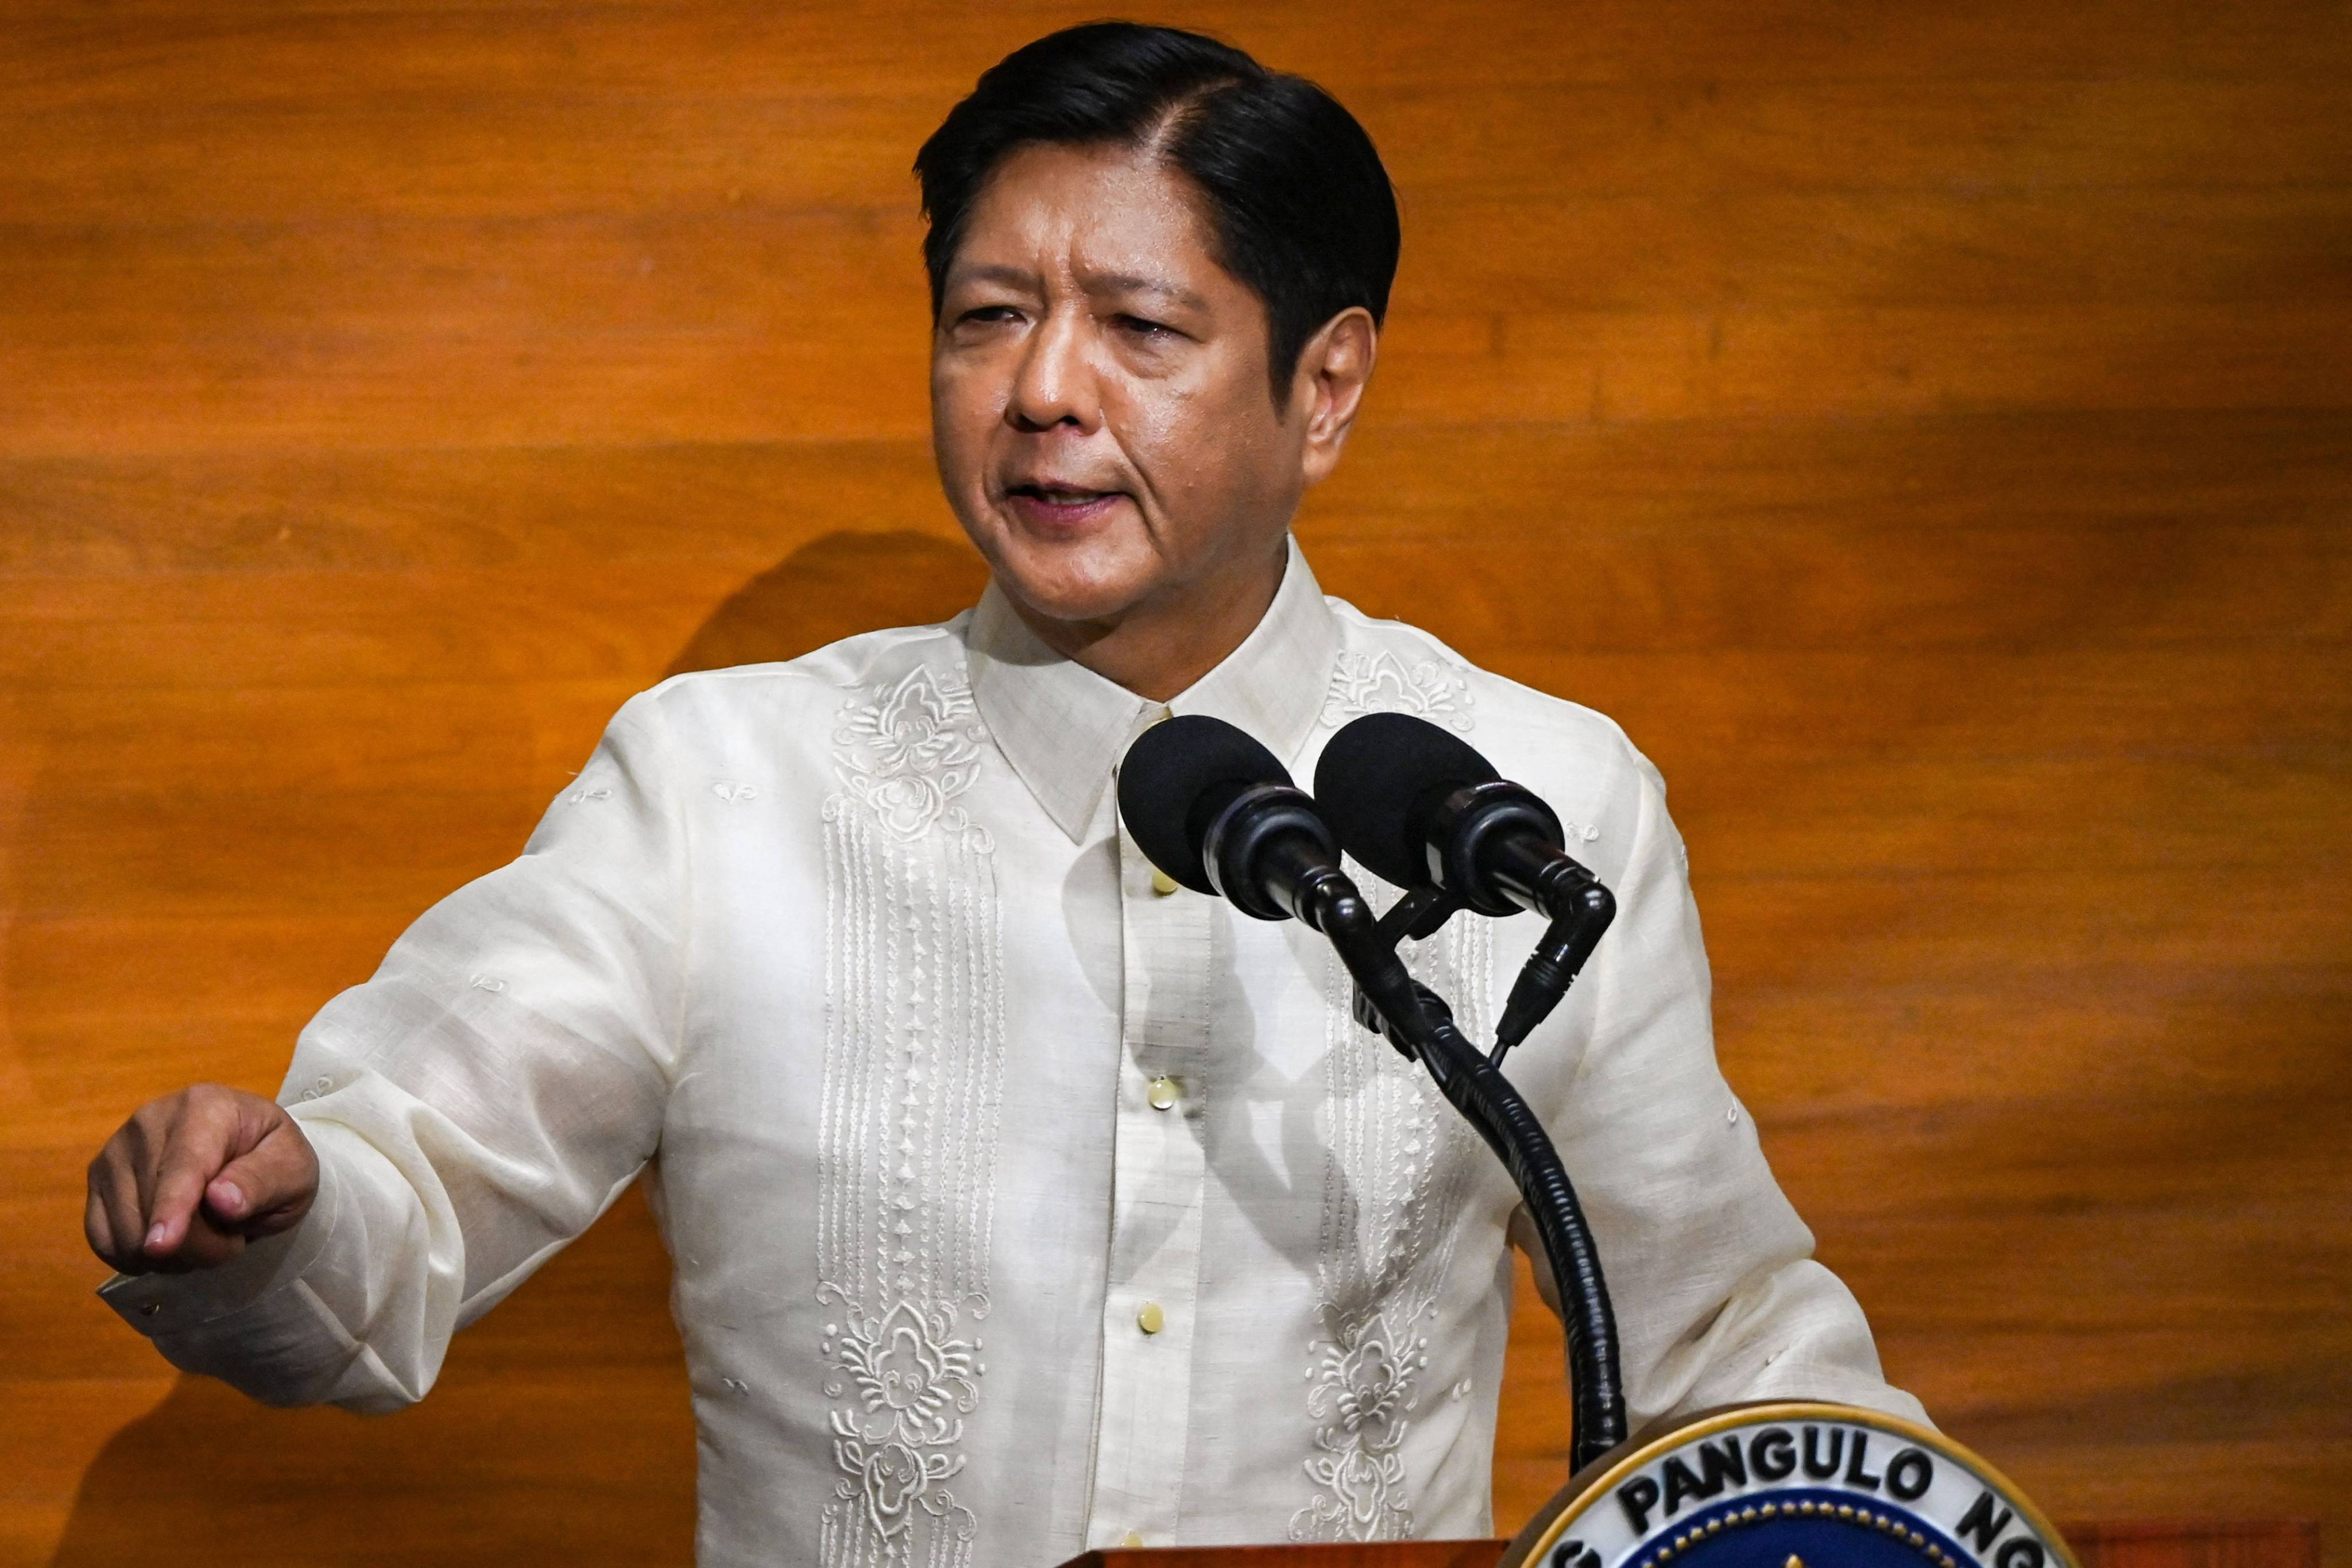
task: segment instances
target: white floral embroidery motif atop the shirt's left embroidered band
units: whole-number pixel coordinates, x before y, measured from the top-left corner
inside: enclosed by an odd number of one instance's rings
[[[962,675],[915,665],[898,682],[873,686],[844,703],[833,741],[842,788],[896,837],[920,839],[938,820],[985,837],[953,804],[981,776],[988,745]]]

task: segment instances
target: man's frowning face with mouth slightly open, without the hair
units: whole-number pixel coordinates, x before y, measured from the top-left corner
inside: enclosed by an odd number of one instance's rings
[[[1190,181],[1127,148],[1023,148],[974,202],[931,339],[931,447],[1033,616],[1117,625],[1272,583],[1310,421],[1303,397],[1277,411],[1265,306],[1209,247]]]

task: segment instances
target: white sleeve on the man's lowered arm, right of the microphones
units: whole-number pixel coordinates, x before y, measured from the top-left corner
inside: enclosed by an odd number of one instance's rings
[[[1710,973],[1682,837],[1628,748],[1632,846],[1585,980],[1592,1044],[1541,1107],[1578,1185],[1623,1345],[1628,1418],[1828,1399],[1924,1420],[1886,1385],[1853,1293],[1813,1260],[1755,1119],[1715,1060]],[[1628,788],[1630,785],[1630,788]],[[1611,825],[1613,830],[1623,830]]]

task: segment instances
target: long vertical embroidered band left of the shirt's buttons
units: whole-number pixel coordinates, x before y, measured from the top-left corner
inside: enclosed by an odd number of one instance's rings
[[[960,675],[844,705],[826,802],[826,1081],[816,1192],[823,1392],[840,1469],[826,1568],[969,1568],[950,1481],[981,1403],[1004,954],[995,846],[955,797],[985,729]],[[946,825],[948,832],[931,832]]]

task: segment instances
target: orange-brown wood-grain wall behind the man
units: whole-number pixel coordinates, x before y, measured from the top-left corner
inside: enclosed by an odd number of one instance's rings
[[[680,1563],[628,1201],[360,1422],[176,1380],[80,1166],[670,668],[955,609],[908,158],[1080,9],[0,21],[0,1559]],[[1663,764],[1722,1053],[2053,1512],[2352,1530],[2352,9],[1171,5],[1404,197],[1334,592]],[[1538,1309],[1541,1312],[1541,1309]],[[1559,1481],[1522,1314],[1498,1507]]]

